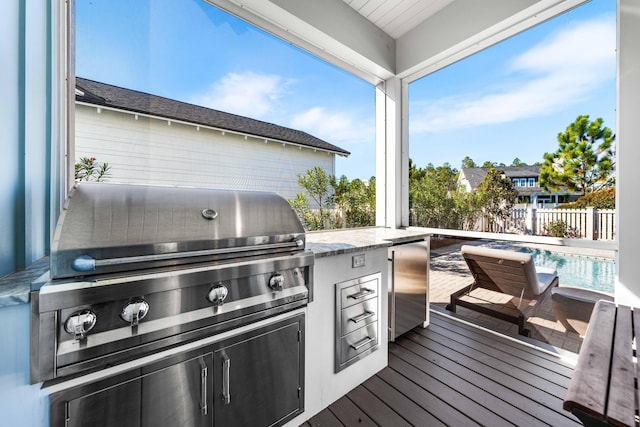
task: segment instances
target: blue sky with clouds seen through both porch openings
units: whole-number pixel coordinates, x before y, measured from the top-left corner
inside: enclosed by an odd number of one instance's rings
[[[374,87],[201,0],[77,0],[76,74],[304,130],[352,153],[338,175],[375,175]],[[421,167],[541,161],[580,114],[615,130],[615,1],[593,0],[409,95]]]

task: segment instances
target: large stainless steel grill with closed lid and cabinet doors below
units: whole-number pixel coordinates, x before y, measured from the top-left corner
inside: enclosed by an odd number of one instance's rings
[[[233,336],[254,323],[264,328],[265,321],[296,312],[312,296],[314,257],[305,251],[304,228],[289,204],[271,193],[80,183],[65,204],[50,258],[49,275],[32,292],[32,380],[49,386],[80,377],[93,384],[83,390],[94,394],[112,389],[114,381],[91,378],[96,372],[122,366],[115,377],[124,375],[128,383],[137,361],[147,366],[151,357],[164,366],[164,354],[187,343],[190,355],[193,343],[202,343],[203,354],[218,354],[211,348],[217,336]],[[302,337],[304,317],[298,313],[296,319]],[[282,327],[274,320],[273,329]],[[299,356],[301,342],[291,344]],[[201,357],[193,366],[207,371]],[[222,365],[229,369],[229,363]],[[228,390],[229,372],[221,375]],[[297,376],[299,413],[300,369]],[[202,384],[201,396],[215,407],[220,402],[206,396],[213,385]],[[84,399],[77,387],[58,389],[51,398],[52,422],[75,407],[69,402]],[[205,400],[199,405],[207,407]],[[211,413],[200,409],[207,424]],[[143,413],[152,417],[154,410]],[[191,417],[193,408],[177,405],[176,411]],[[275,416],[265,414],[265,422]],[[228,421],[229,413],[224,417]]]

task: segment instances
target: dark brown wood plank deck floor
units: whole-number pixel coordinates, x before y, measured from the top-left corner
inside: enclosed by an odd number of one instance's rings
[[[308,426],[581,426],[562,409],[573,367],[432,312],[389,345],[389,366]]]

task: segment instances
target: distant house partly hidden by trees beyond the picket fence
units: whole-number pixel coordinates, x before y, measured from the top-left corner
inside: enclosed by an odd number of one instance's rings
[[[576,200],[578,193],[566,190],[545,191],[540,187],[541,166],[500,166],[496,169],[509,178],[518,192],[518,202],[533,205],[551,203],[565,203]],[[462,168],[458,182],[464,185],[468,192],[475,191],[489,168]]]

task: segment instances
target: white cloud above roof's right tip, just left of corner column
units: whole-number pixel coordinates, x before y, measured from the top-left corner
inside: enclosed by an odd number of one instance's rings
[[[375,132],[373,117],[358,119],[353,113],[329,112],[324,107],[313,107],[293,116],[290,126],[332,144],[371,141]]]

